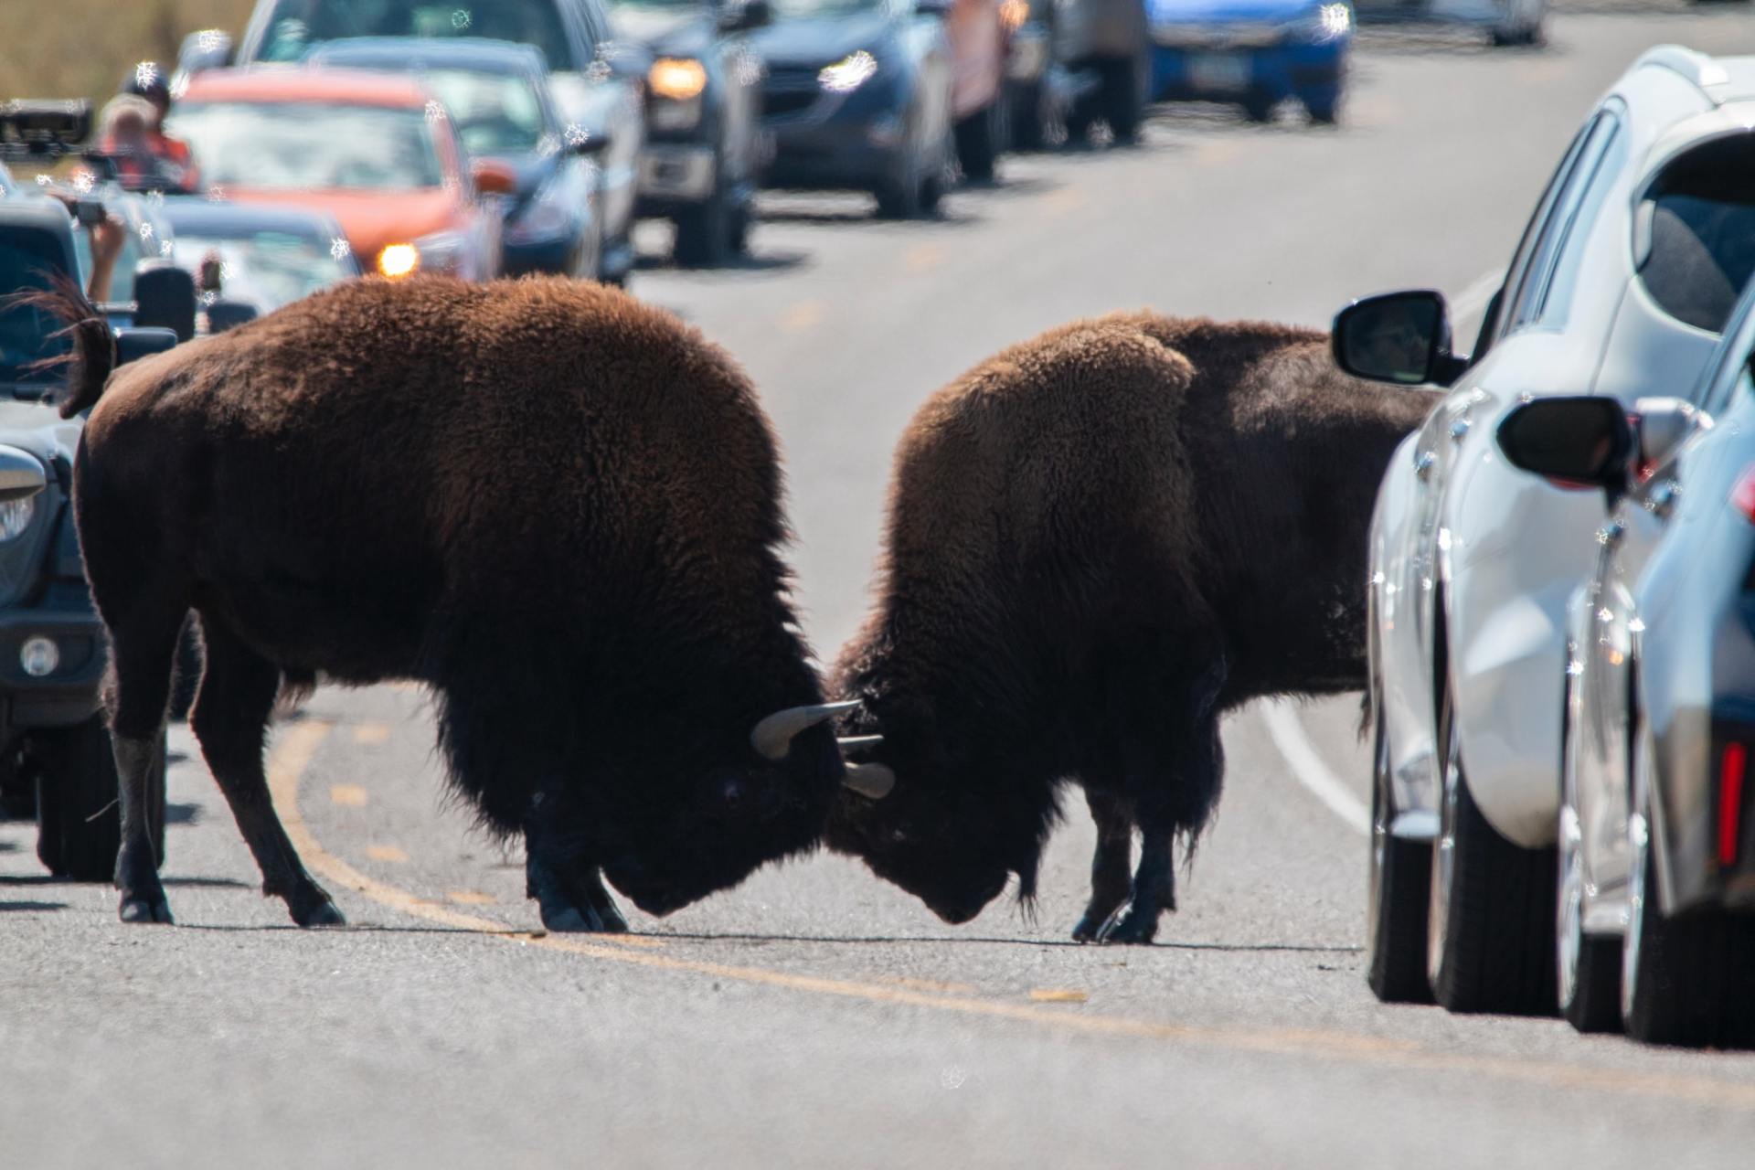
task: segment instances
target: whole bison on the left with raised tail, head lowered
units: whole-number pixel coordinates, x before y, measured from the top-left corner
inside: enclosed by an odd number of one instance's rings
[[[184,614],[191,726],[302,926],[339,923],[269,802],[276,696],[416,679],[456,788],[521,831],[553,930],[625,930],[811,847],[842,763],[795,628],[774,437],[672,316],[567,281],[363,281],[111,374],[63,414],[112,647],[125,921],[170,921],[144,800]],[[102,398],[98,396],[102,393]]]

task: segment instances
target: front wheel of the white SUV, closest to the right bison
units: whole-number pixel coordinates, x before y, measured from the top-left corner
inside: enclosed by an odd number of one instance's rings
[[[1378,710],[1371,767],[1371,874],[1365,896],[1365,982],[1385,1003],[1430,1003],[1425,917],[1432,847],[1390,835],[1390,740]]]

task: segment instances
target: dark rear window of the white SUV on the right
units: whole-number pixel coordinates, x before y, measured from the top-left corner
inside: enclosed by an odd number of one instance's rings
[[[1639,205],[1639,282],[1674,319],[1725,326],[1755,274],[1755,135],[1708,142],[1673,160]]]

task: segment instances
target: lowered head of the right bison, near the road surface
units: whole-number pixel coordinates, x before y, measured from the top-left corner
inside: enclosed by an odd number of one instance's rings
[[[1011,874],[1020,896],[1034,896],[1042,830],[1016,802],[988,798],[981,765],[960,765],[907,731],[848,737],[841,747],[848,779],[830,849],[863,860],[951,924],[986,909]]]

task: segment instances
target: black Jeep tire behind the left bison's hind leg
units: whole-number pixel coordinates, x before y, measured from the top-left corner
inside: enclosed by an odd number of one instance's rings
[[[102,714],[70,728],[30,735],[37,774],[37,860],[56,877],[107,882],[121,849],[116,754]],[[147,817],[160,863],[165,860],[165,738],[147,791]]]

